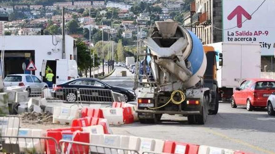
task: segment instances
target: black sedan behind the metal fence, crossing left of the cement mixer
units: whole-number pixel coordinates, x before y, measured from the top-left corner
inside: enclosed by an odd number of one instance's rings
[[[112,101],[112,97],[110,96],[111,94],[109,94],[108,91],[100,91],[98,89],[109,89],[113,92],[123,94],[123,99],[126,102],[136,99],[136,94],[133,90],[118,86],[111,86],[108,83],[95,78],[78,78],[58,84],[53,88],[53,96],[56,98],[62,96],[62,100],[66,100],[68,102],[75,102],[77,100],[77,96],[80,96],[80,99],[83,102]],[[79,95],[77,92],[79,92]]]

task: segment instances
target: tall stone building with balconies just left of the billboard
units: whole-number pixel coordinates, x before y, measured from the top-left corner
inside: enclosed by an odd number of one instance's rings
[[[184,26],[192,30],[202,44],[222,41],[222,1],[195,0],[184,14]]]

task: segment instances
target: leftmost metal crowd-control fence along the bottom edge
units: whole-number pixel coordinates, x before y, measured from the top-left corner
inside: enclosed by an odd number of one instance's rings
[[[47,150],[60,153],[59,144],[54,138],[49,137],[21,137],[21,136],[0,136],[3,153],[33,153],[44,154]],[[45,147],[48,145],[48,147]]]

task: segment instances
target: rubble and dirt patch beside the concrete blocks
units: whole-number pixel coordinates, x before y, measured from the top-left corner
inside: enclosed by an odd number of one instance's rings
[[[52,124],[53,123],[53,114],[49,112],[44,113],[21,113],[18,114],[23,123],[31,123],[31,124]]]

